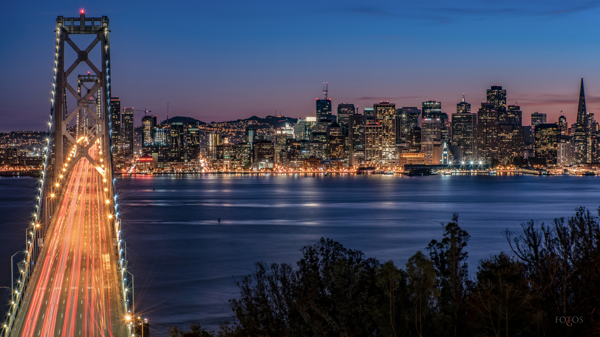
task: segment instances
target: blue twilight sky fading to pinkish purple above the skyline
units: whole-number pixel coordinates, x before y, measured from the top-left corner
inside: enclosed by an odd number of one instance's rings
[[[44,129],[55,19],[80,8],[109,16],[113,95],[160,119],[167,102],[205,122],[314,116],[329,82],[334,109],[430,99],[448,115],[462,92],[476,110],[502,85],[524,125],[560,110],[572,124],[581,77],[600,115],[598,1],[38,0],[2,5],[0,132]]]

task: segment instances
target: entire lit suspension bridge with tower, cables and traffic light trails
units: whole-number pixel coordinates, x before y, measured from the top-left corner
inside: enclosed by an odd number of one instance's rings
[[[44,169],[2,336],[142,336],[112,169],[109,19],[82,10],[55,33]]]

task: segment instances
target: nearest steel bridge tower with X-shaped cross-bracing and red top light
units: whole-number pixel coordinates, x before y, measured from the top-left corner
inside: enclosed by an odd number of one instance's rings
[[[110,137],[110,26],[109,19],[103,17],[85,17],[82,10],[80,17],[62,17],[56,19],[56,68],[55,83],[52,98],[52,118],[54,122],[54,158],[53,185],[66,176],[79,158],[87,158],[102,174],[104,179],[112,179],[112,160],[104,167],[96,163],[88,155],[88,149],[100,140],[102,152],[110,154],[112,143]],[[70,35],[95,35],[94,40],[85,49],[80,49],[71,40]],[[89,59],[89,53],[100,43],[99,67]],[[65,70],[65,44],[77,53],[77,59]],[[68,82],[77,65],[85,62],[94,74],[79,75],[78,88],[74,89]],[[85,85],[88,83],[88,86]],[[72,110],[67,106],[67,97],[72,95],[77,106]],[[75,132],[73,129],[76,127]],[[74,137],[75,136],[75,137]],[[76,139],[78,137],[78,139]],[[88,139],[88,145],[83,146],[82,138]],[[75,146],[76,155],[68,160],[69,150]],[[112,156],[110,156],[112,158]],[[46,178],[47,179],[47,178]],[[58,195],[59,191],[55,191]]]

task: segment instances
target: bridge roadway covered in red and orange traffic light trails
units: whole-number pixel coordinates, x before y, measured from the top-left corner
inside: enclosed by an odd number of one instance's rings
[[[85,158],[73,167],[17,316],[19,336],[126,336],[107,184]]]

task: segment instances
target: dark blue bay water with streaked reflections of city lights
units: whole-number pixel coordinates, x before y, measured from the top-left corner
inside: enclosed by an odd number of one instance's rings
[[[2,193],[0,207],[29,207],[23,200],[34,184],[21,180],[19,194],[8,181],[0,179],[10,193]],[[404,266],[440,239],[440,222],[458,212],[472,236],[474,270],[479,258],[509,249],[504,228],[600,203],[600,177],[591,176],[124,176],[117,188],[136,307],[148,313],[153,335],[194,321],[217,327],[229,318],[224,303],[235,296],[232,275],[247,275],[254,261],[293,263],[320,237]],[[10,228],[22,242],[11,221],[0,230]]]

